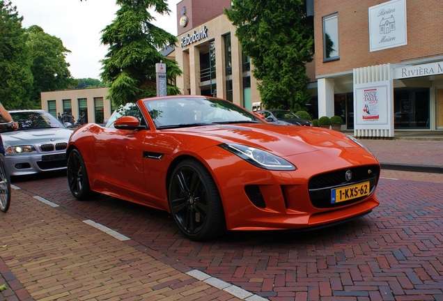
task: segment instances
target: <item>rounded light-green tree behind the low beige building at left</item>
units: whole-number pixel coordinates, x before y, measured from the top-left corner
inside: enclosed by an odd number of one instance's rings
[[[26,46],[31,57],[31,72],[34,77],[31,100],[40,105],[40,93],[57,91],[75,86],[68,69],[66,55],[70,50],[63,42],[48,33],[40,26],[33,25],[26,29]]]

